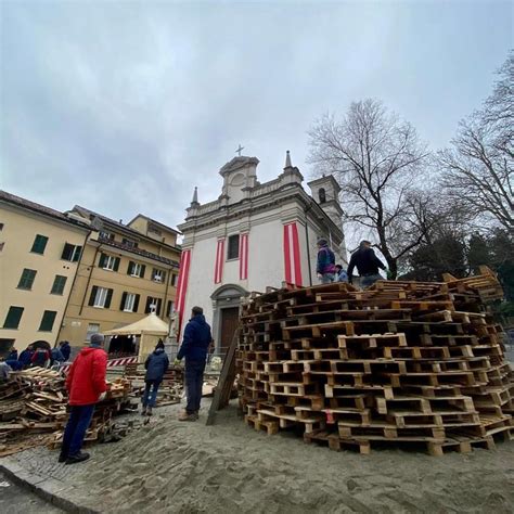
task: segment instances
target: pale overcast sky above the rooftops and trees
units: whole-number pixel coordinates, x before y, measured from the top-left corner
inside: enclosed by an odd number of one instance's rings
[[[177,226],[234,155],[306,178],[312,121],[378,98],[433,149],[513,47],[510,1],[5,1],[1,189]]]

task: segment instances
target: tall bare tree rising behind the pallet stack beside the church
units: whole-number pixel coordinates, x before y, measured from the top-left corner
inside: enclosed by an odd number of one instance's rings
[[[309,131],[316,174],[333,174],[347,221],[371,232],[393,278],[398,260],[423,240],[409,201],[427,151],[414,128],[376,100],[354,102],[337,120],[327,114]]]

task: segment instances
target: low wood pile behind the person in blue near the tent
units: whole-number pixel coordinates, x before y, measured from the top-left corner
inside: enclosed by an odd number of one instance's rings
[[[144,369],[138,364],[129,364],[126,368],[125,377],[132,384],[132,396],[140,399],[144,393]],[[170,365],[164,375],[157,393],[156,407],[172,406],[180,403],[184,391],[184,372],[181,365]]]

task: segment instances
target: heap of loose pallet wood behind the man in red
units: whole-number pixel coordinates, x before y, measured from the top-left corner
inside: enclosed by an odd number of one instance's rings
[[[87,440],[113,433],[113,415],[129,401],[129,381],[110,383],[105,400],[95,408]],[[66,407],[62,373],[44,368],[11,373],[9,381],[0,385],[0,457],[59,441],[67,421]]]

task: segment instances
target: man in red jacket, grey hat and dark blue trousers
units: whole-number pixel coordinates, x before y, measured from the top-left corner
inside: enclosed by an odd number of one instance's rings
[[[82,348],[69,369],[66,389],[70,412],[59,462],[75,464],[89,459],[89,453],[80,449],[93,416],[94,404],[105,398],[107,390],[107,354],[103,350],[103,342],[102,334],[93,334],[90,346]]]

